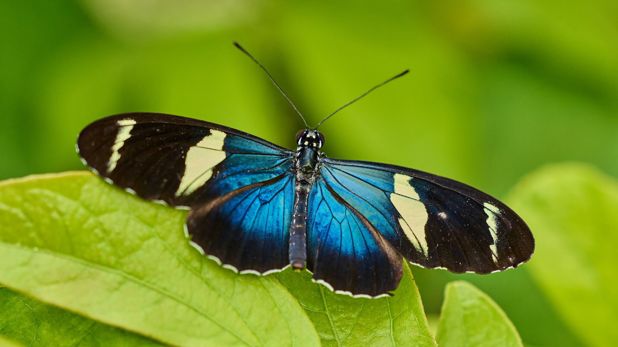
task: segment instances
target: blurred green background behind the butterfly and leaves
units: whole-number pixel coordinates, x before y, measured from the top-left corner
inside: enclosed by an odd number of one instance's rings
[[[548,162],[618,175],[615,0],[1,0],[0,179],[82,170],[78,132],[121,112],[205,119],[293,148],[300,119],[233,40],[310,125],[410,69],[324,123],[331,157],[426,170],[498,198]],[[527,265],[412,271],[430,320],[444,284],[465,279],[527,345],[586,345]]]

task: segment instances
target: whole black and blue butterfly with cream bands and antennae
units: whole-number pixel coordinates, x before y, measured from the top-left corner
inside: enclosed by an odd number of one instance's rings
[[[292,151],[223,125],[137,112],[91,123],[77,151],[107,182],[189,209],[190,242],[241,274],[306,268],[337,293],[375,298],[397,288],[404,259],[476,274],[530,259],[533,235],[501,201],[419,170],[326,157],[318,127],[305,122]]]

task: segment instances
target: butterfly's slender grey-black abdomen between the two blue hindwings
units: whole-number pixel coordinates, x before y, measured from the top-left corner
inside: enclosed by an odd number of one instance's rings
[[[296,185],[288,253],[294,270],[305,269],[307,261],[307,199],[310,189],[311,185],[307,182],[298,182]]]

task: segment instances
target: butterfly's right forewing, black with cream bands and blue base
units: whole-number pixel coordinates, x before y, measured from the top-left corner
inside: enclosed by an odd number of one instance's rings
[[[488,274],[530,259],[530,229],[509,207],[464,183],[395,165],[324,158],[321,175],[408,261]]]

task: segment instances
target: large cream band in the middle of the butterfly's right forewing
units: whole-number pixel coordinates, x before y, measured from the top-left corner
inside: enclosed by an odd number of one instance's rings
[[[395,174],[394,193],[391,193],[391,203],[401,215],[399,225],[412,245],[421,253],[428,256],[428,246],[425,235],[425,225],[429,214],[425,204],[421,203],[418,193],[410,185],[412,177]]]

